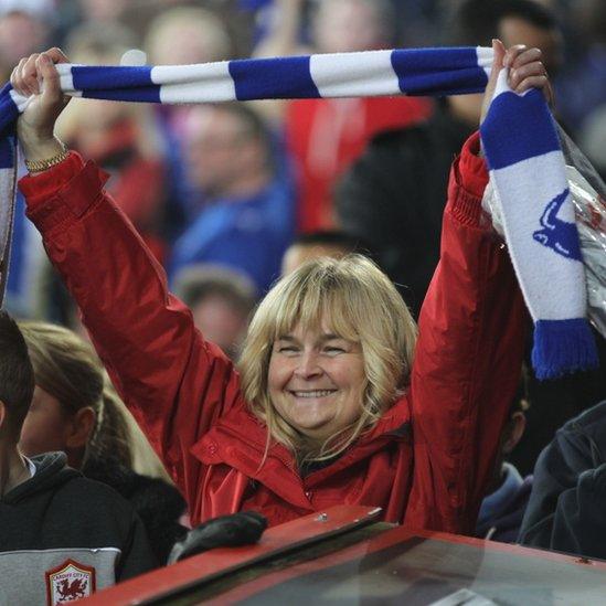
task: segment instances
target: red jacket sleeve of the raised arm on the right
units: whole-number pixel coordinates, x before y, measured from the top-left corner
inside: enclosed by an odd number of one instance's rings
[[[525,319],[508,252],[482,214],[487,173],[478,152],[476,134],[453,166],[440,261],[421,311],[404,519],[467,534],[520,379]]]

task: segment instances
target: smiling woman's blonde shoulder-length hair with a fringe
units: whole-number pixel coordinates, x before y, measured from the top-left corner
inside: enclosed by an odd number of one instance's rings
[[[305,436],[274,407],[268,370],[274,342],[297,325],[329,328],[360,343],[366,383],[360,417],[322,445]],[[274,439],[294,454],[298,464],[332,458],[347,449],[410,383],[416,325],[392,281],[370,259],[348,255],[341,259],[310,261],[284,277],[257,308],[240,360],[244,395],[253,413]]]

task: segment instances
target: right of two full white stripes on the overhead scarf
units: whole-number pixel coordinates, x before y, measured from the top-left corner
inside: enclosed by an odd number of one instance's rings
[[[309,70],[322,97],[401,95],[392,51],[311,55]]]

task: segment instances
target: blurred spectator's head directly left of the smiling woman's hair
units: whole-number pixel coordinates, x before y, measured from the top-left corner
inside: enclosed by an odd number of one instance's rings
[[[191,309],[204,339],[236,361],[256,304],[255,285],[224,267],[192,265],[176,276],[173,291]]]

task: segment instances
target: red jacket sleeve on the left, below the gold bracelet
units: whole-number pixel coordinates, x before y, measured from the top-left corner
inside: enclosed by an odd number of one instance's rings
[[[162,268],[105,193],[106,180],[72,152],[20,188],[116,389],[192,507],[202,469],[190,448],[240,402],[237,374],[168,293]]]

